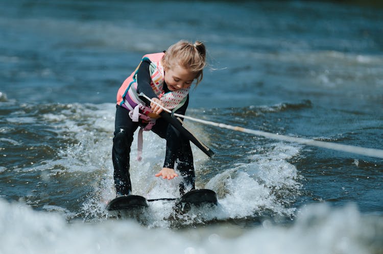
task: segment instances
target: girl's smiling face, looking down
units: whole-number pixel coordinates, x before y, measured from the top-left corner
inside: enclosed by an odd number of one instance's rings
[[[165,83],[171,91],[185,89],[192,85],[196,78],[196,73],[191,72],[179,65],[165,70]]]

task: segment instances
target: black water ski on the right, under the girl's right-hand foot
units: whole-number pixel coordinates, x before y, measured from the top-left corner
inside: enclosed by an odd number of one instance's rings
[[[217,205],[218,199],[216,192],[209,189],[191,190],[183,194],[176,202],[176,207],[184,210],[190,205],[196,207],[202,205]]]

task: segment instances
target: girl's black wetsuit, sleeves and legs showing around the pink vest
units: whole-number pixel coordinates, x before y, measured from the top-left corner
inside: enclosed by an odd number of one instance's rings
[[[137,73],[137,93],[143,92],[150,98],[157,97],[152,87],[150,86],[151,77],[149,73],[150,61],[142,61]],[[163,84],[163,89],[166,92],[167,85]],[[158,97],[157,97],[158,98]],[[186,108],[189,102],[187,95],[186,102],[175,111],[175,113],[185,115]],[[149,105],[147,105],[149,106]],[[141,119],[139,122],[133,122],[129,117],[129,110],[116,105],[116,117],[114,124],[114,138],[112,148],[112,160],[114,167],[114,187],[117,195],[128,195],[132,190],[129,160],[130,147],[133,141],[133,134],[138,126],[143,126]],[[193,154],[190,142],[180,135],[171,124],[162,118],[158,118],[152,131],[161,138],[166,139],[166,154],[163,167],[174,168],[177,162],[177,170],[181,173],[183,181],[181,181],[179,189],[180,194],[185,193],[186,188],[195,189],[195,172],[193,165]]]

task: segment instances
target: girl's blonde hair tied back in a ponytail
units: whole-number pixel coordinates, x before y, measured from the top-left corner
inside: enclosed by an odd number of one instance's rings
[[[162,58],[165,70],[179,65],[196,73],[197,85],[203,78],[203,68],[206,66],[206,48],[201,41],[191,43],[181,40],[171,45]]]

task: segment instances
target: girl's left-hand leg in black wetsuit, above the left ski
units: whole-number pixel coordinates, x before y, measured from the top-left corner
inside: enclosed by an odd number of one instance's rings
[[[114,168],[114,187],[117,195],[128,195],[132,191],[129,174],[130,146],[138,123],[129,117],[129,111],[116,106],[112,161]]]

